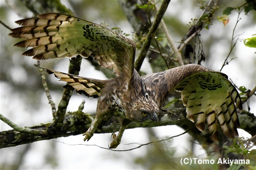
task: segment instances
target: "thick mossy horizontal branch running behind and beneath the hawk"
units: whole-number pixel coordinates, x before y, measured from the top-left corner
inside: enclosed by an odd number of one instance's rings
[[[84,101],[83,101],[84,102]],[[32,134],[30,131],[34,132],[45,132],[50,127],[51,123],[35,125],[32,127],[26,127],[29,129],[29,132],[20,130],[9,130],[0,132],[0,148],[7,148],[12,146],[17,146],[21,144],[33,143],[35,141],[49,140],[57,137],[67,137],[82,134],[87,131],[88,127],[92,122],[92,117],[90,115],[83,113],[81,109],[83,108],[83,103],[79,106],[79,110],[76,112],[68,112],[66,113],[63,121],[63,126],[60,131],[55,134]],[[175,116],[173,115],[173,113]],[[240,128],[244,129],[252,136],[256,135],[256,117],[249,112],[242,111],[238,113],[240,120]],[[191,136],[193,136],[199,143],[205,144],[206,141],[209,142],[209,137],[211,134],[208,130],[204,132],[200,132],[190,120],[186,118],[185,108],[175,109],[166,113],[159,113],[158,115],[159,121],[156,124],[149,124],[143,127],[157,127],[157,126],[165,126],[165,125],[178,125],[183,129],[187,130],[190,128],[188,132]],[[133,129],[137,127],[142,127],[135,122],[131,122],[128,125],[127,129]],[[102,123],[98,126],[95,133],[110,133],[118,131],[120,128],[118,117],[105,117]],[[82,140],[82,137],[81,137]]]

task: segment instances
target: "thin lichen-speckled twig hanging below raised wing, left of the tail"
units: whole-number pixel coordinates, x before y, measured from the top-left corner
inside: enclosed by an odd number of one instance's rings
[[[42,78],[42,84],[43,84],[43,89],[45,90],[45,94],[46,94],[46,97],[49,101],[49,104],[51,105],[52,107],[52,117],[55,118],[56,117],[56,107],[55,107],[55,103],[54,101],[52,100],[52,97],[50,95],[50,92],[49,92],[49,89],[48,89],[48,86],[47,86],[47,82],[45,80],[45,76],[43,75],[43,69],[40,67],[40,61],[37,60],[37,65],[35,65],[36,67],[38,67],[38,70],[39,70],[39,73],[40,73],[40,76]]]

